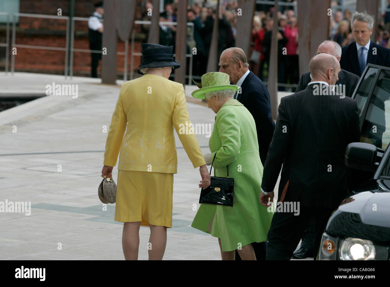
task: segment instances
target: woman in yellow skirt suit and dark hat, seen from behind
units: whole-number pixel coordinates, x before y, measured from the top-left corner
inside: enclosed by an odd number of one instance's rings
[[[111,176],[120,152],[114,220],[124,223],[126,260],[138,258],[140,225],[150,227],[149,260],[163,258],[167,227],[172,227],[173,174],[177,173],[174,128],[193,167],[199,167],[199,187],[210,185],[195,134],[179,132],[188,131],[180,127],[191,123],[183,85],[168,80],[172,68],[180,67],[172,50],[173,46],[142,44],[138,73],[144,75],[122,85],[107,135],[102,176]]]

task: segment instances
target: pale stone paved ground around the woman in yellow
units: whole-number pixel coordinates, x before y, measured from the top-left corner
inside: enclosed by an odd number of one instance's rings
[[[115,205],[103,211],[97,196],[107,136],[102,127],[110,124],[120,86],[91,78],[0,73],[0,96],[44,94],[52,82],[78,84],[78,97],[50,95],[0,112],[0,201],[32,205],[30,216],[0,213],[0,259],[124,259]],[[191,89],[186,87],[186,94]],[[188,111],[193,123],[214,123],[215,114],[204,105],[188,103]],[[197,139],[208,153],[208,138]],[[177,137],[176,143],[173,226],[164,259],[220,260],[217,239],[190,226],[193,204],[199,206],[200,175]],[[113,174],[116,181],[116,167]],[[149,228],[141,227],[140,260],[147,259],[148,239]]]

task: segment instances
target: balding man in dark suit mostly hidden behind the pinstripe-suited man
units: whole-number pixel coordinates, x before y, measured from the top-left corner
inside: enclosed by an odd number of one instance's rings
[[[317,53],[326,53],[334,56],[338,61],[341,58],[341,47],[335,41],[323,41],[317,48]],[[307,85],[312,79],[310,78],[310,72],[303,73],[301,79],[299,80],[298,87],[295,90],[295,93],[306,89]],[[351,98],[355,87],[359,82],[359,77],[353,73],[350,73],[346,70],[341,69],[339,73],[339,80],[336,82],[336,87],[339,87],[339,94]],[[341,85],[341,86],[340,86]],[[293,253],[293,257],[297,259],[304,259],[306,257],[313,257],[313,241],[314,241],[314,218],[310,219],[309,224],[302,236],[302,242],[300,249]]]

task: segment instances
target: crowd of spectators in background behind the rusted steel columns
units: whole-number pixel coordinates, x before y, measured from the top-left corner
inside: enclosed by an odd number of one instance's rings
[[[221,1],[222,6],[218,11],[220,19],[218,29],[218,57],[223,50],[234,47],[236,40],[238,2],[232,0]],[[293,2],[293,1],[287,1]],[[194,24],[193,41],[188,37],[188,53],[192,48],[197,48],[197,55],[193,57],[192,74],[200,77],[206,72],[207,59],[211,44],[213,23],[216,17],[216,8],[208,7],[207,1],[195,1],[188,5],[188,22]],[[258,4],[259,5],[259,4]],[[332,7],[337,7],[337,1],[332,2]],[[147,9],[152,4],[145,0],[142,4],[142,20],[151,20],[147,15]],[[390,7],[390,0],[389,6]],[[299,82],[298,69],[298,23],[296,8],[292,5],[279,6],[276,16],[270,5],[259,5],[261,11],[255,11],[251,53],[248,55],[249,69],[264,82],[268,80],[269,55],[271,49],[272,27],[275,19],[278,21],[278,83],[279,91],[293,91]],[[330,16],[329,39],[337,42],[340,46],[347,46],[354,41],[351,28],[350,10],[344,12],[333,9]],[[160,14],[160,21],[176,21],[177,1],[166,4],[164,12]],[[390,12],[383,13],[379,19],[377,41],[381,46],[390,48]],[[143,31],[148,32],[149,25],[143,25]],[[175,46],[176,27],[174,25],[160,25],[160,45]],[[190,30],[188,32],[190,34]],[[145,39],[146,41],[146,39]],[[144,41],[144,43],[145,43]],[[187,65],[188,66],[188,65]],[[196,78],[196,77],[195,77]]]

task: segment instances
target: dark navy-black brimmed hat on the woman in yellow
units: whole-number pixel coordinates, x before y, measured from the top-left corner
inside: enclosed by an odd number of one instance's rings
[[[180,65],[174,60],[173,46],[163,46],[158,44],[141,44],[142,46],[142,64],[138,66],[138,74],[142,68],[163,68],[174,67],[180,68]]]

